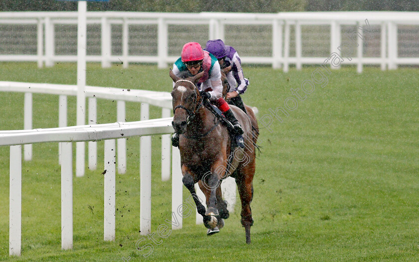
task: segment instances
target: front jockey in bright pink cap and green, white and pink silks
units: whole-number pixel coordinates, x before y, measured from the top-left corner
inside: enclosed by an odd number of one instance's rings
[[[173,73],[182,77],[184,73],[196,75],[204,71],[204,76],[198,80],[198,88],[203,98],[209,99],[224,114],[234,126],[234,130],[243,134],[240,123],[233,112],[222,98],[221,71],[217,59],[207,51],[204,51],[199,43],[189,42],[182,48],[181,57],[173,64]],[[172,138],[173,146],[179,146],[179,134],[175,133]]]

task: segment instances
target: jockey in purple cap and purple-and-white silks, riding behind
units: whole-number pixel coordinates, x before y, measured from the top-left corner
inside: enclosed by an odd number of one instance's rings
[[[230,89],[225,98],[230,99],[232,104],[247,114],[240,95],[246,91],[249,80],[244,78],[240,57],[236,50],[231,46],[225,45],[221,39],[209,40],[205,50],[217,58],[224,72],[227,71],[225,75]]]

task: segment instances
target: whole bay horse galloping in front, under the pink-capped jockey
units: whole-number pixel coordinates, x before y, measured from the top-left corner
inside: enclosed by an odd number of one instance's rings
[[[223,219],[229,217],[220,184],[231,176],[237,184],[241,200],[241,225],[245,229],[246,243],[250,244],[250,227],[253,225],[250,203],[253,198],[258,134],[252,132],[252,125],[257,128],[256,118],[254,114],[252,119],[239,108],[230,106],[244,131],[244,148],[235,147],[232,151],[234,141],[227,128],[204,106],[205,101],[196,86],[204,72],[181,78],[170,70],[169,75],[175,82],[171,92],[174,113],[172,126],[180,135],[182,182],[190,191],[198,213],[203,216],[204,225],[208,228],[207,235],[218,233],[224,225]],[[195,183],[199,184],[206,196],[207,210],[195,192]]]

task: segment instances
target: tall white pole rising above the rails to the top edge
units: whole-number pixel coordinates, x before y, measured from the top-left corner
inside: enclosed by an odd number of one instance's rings
[[[77,28],[77,125],[86,121],[86,1],[78,1]],[[85,143],[76,143],[76,176],[84,176]]]

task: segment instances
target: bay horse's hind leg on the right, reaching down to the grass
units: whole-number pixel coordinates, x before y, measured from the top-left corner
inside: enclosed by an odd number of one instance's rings
[[[237,170],[237,188],[241,200],[241,225],[246,233],[246,243],[250,244],[250,227],[253,225],[252,211],[250,203],[253,199],[253,175],[255,161]]]

